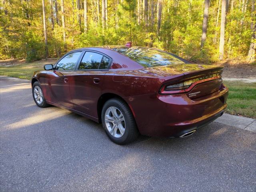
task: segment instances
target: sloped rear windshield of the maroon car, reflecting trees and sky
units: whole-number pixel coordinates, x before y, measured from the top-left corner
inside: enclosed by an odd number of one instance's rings
[[[146,47],[114,47],[111,48],[114,51],[117,51],[130,59],[138,62],[144,67],[155,67],[155,66],[164,66],[171,64],[184,64],[182,60],[172,56],[171,54],[156,50],[154,48]]]

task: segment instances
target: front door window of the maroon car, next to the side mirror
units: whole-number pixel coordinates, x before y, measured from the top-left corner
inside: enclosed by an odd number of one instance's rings
[[[76,66],[76,62],[80,57],[82,51],[72,52],[62,58],[56,65],[56,70],[74,70]]]

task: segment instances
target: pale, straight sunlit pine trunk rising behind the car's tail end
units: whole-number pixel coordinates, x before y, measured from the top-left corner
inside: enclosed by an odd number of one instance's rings
[[[226,3],[227,0],[222,0],[221,5],[221,21],[220,21],[220,60],[223,59],[224,56],[224,36],[225,36],[225,23],[226,23]]]

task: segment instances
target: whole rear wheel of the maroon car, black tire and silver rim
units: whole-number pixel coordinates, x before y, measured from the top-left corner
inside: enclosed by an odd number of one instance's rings
[[[132,112],[120,99],[110,99],[104,104],[101,119],[107,136],[116,144],[128,144],[138,137]]]

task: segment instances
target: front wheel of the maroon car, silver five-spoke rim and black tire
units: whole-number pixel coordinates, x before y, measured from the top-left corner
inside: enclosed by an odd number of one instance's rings
[[[37,104],[37,106],[39,107],[47,107],[48,104],[46,103],[46,100],[44,98],[44,94],[42,92],[42,88],[40,86],[39,82],[34,82],[33,86],[32,86],[32,94],[33,94],[33,98],[35,103]]]

